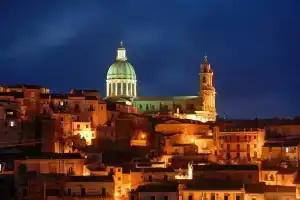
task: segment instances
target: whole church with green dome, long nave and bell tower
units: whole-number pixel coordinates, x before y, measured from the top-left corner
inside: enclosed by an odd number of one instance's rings
[[[172,115],[176,118],[201,122],[216,120],[215,88],[213,71],[207,56],[200,65],[199,96],[138,96],[137,76],[128,62],[126,49],[121,42],[117,57],[106,78],[106,99],[133,105],[141,113],[151,115]]]

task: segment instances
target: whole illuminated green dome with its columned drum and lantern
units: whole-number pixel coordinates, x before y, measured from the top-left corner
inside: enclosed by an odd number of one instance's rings
[[[106,96],[136,97],[136,74],[127,61],[126,49],[121,42],[117,57],[106,75]]]

